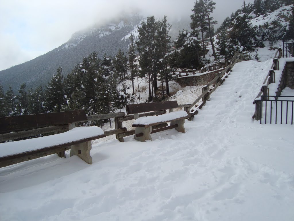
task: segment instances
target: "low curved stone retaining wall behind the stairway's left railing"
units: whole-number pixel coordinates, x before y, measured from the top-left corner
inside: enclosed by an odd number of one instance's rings
[[[210,83],[219,72],[211,72],[203,75],[193,76],[190,75],[189,77],[179,77],[177,78],[177,82],[182,87],[186,86],[196,86],[196,85],[207,85]]]

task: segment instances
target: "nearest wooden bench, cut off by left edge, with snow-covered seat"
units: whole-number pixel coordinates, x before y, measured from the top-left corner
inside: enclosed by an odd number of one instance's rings
[[[86,120],[84,110],[1,117],[0,142],[44,133],[55,134],[1,143],[0,167],[55,153],[65,157],[65,151],[69,149],[70,156],[77,155],[92,164],[91,141],[106,135],[99,127],[76,127],[76,122]]]

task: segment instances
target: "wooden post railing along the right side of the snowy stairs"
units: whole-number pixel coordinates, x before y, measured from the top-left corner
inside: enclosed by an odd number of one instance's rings
[[[275,56],[273,58],[273,64],[270,67],[270,70],[268,72],[268,75],[266,75],[265,80],[263,81],[263,85],[260,88],[260,92],[256,96],[256,98],[253,101],[253,104],[255,104],[255,113],[253,114],[252,118],[259,121],[262,117],[260,114],[262,101],[265,99],[264,96],[267,96],[269,94],[268,85],[270,83],[275,83],[275,70],[279,70],[279,58],[283,56],[283,50],[281,48],[278,48],[275,52]],[[263,95],[263,98],[260,96]]]

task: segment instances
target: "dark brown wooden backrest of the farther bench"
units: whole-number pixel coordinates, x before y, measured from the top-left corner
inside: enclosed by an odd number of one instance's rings
[[[176,100],[126,105],[127,114],[167,110],[172,108],[178,108],[178,102]]]

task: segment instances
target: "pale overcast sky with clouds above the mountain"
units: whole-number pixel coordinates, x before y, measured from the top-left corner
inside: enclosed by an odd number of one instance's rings
[[[219,24],[243,0],[214,0]],[[124,12],[168,20],[189,16],[194,0],[0,0],[0,70],[29,61],[65,43],[76,31]],[[245,0],[246,4],[253,0]],[[218,24],[218,25],[219,25]]]

